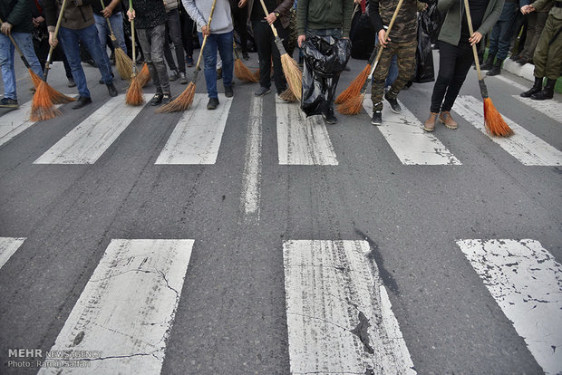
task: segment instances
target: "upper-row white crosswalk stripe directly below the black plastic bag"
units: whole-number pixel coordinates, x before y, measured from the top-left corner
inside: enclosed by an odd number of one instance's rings
[[[334,146],[321,116],[306,118],[295,103],[276,97],[279,164],[337,166]]]

